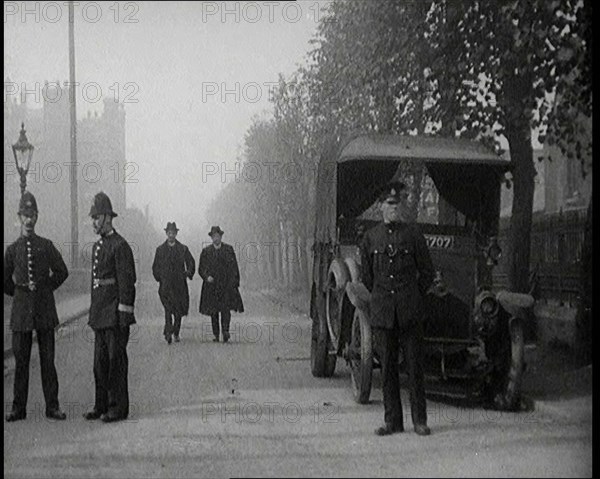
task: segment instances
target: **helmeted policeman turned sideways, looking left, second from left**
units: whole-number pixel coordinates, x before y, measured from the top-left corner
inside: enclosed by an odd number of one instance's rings
[[[90,209],[94,232],[100,239],[92,249],[92,301],[88,324],[94,330],[94,408],[85,419],[104,422],[126,419],[129,414],[127,342],[135,323],[135,264],[127,241],[115,231],[117,214],[108,196],[100,192]]]

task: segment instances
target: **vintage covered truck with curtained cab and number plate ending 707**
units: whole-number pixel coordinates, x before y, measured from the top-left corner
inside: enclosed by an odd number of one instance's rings
[[[500,187],[510,167],[510,160],[466,139],[363,134],[331,142],[317,170],[314,376],[332,376],[344,358],[355,400],[369,401],[379,361],[359,248],[362,234],[380,221],[378,189],[400,179],[410,190],[405,220],[419,223],[436,269],[424,302],[426,390],[519,407],[533,298],[497,290],[492,281],[501,254]],[[402,354],[399,362],[403,374]]]

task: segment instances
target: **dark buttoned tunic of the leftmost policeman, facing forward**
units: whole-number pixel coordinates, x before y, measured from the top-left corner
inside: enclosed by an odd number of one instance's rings
[[[14,296],[12,331],[53,329],[58,326],[54,290],[69,276],[52,241],[36,234],[21,236],[4,253],[4,294]],[[28,287],[35,284],[35,290]]]

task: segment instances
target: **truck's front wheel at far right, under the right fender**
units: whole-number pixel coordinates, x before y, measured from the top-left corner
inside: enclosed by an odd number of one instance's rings
[[[525,333],[518,319],[509,323],[510,345],[505,349],[506,366],[496,376],[492,401],[497,409],[515,411],[521,403],[521,381],[525,369]]]

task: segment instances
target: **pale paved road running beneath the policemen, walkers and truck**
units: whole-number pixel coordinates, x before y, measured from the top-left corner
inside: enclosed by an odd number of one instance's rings
[[[198,288],[194,281],[192,310]],[[591,476],[591,412],[499,413],[428,400],[430,437],[412,432],[408,410],[408,432],[376,437],[379,384],[360,406],[342,362],[333,378],[313,378],[305,316],[245,293],[231,343],[213,343],[209,318],[192,312],[182,342],[169,346],[156,289],[139,288],[130,418],[81,417],[93,401],[93,338],[85,320],[72,323],[57,343],[68,419],[43,416],[34,353],[27,420],[4,426],[5,477]],[[5,375],[5,409],[12,381]]]

